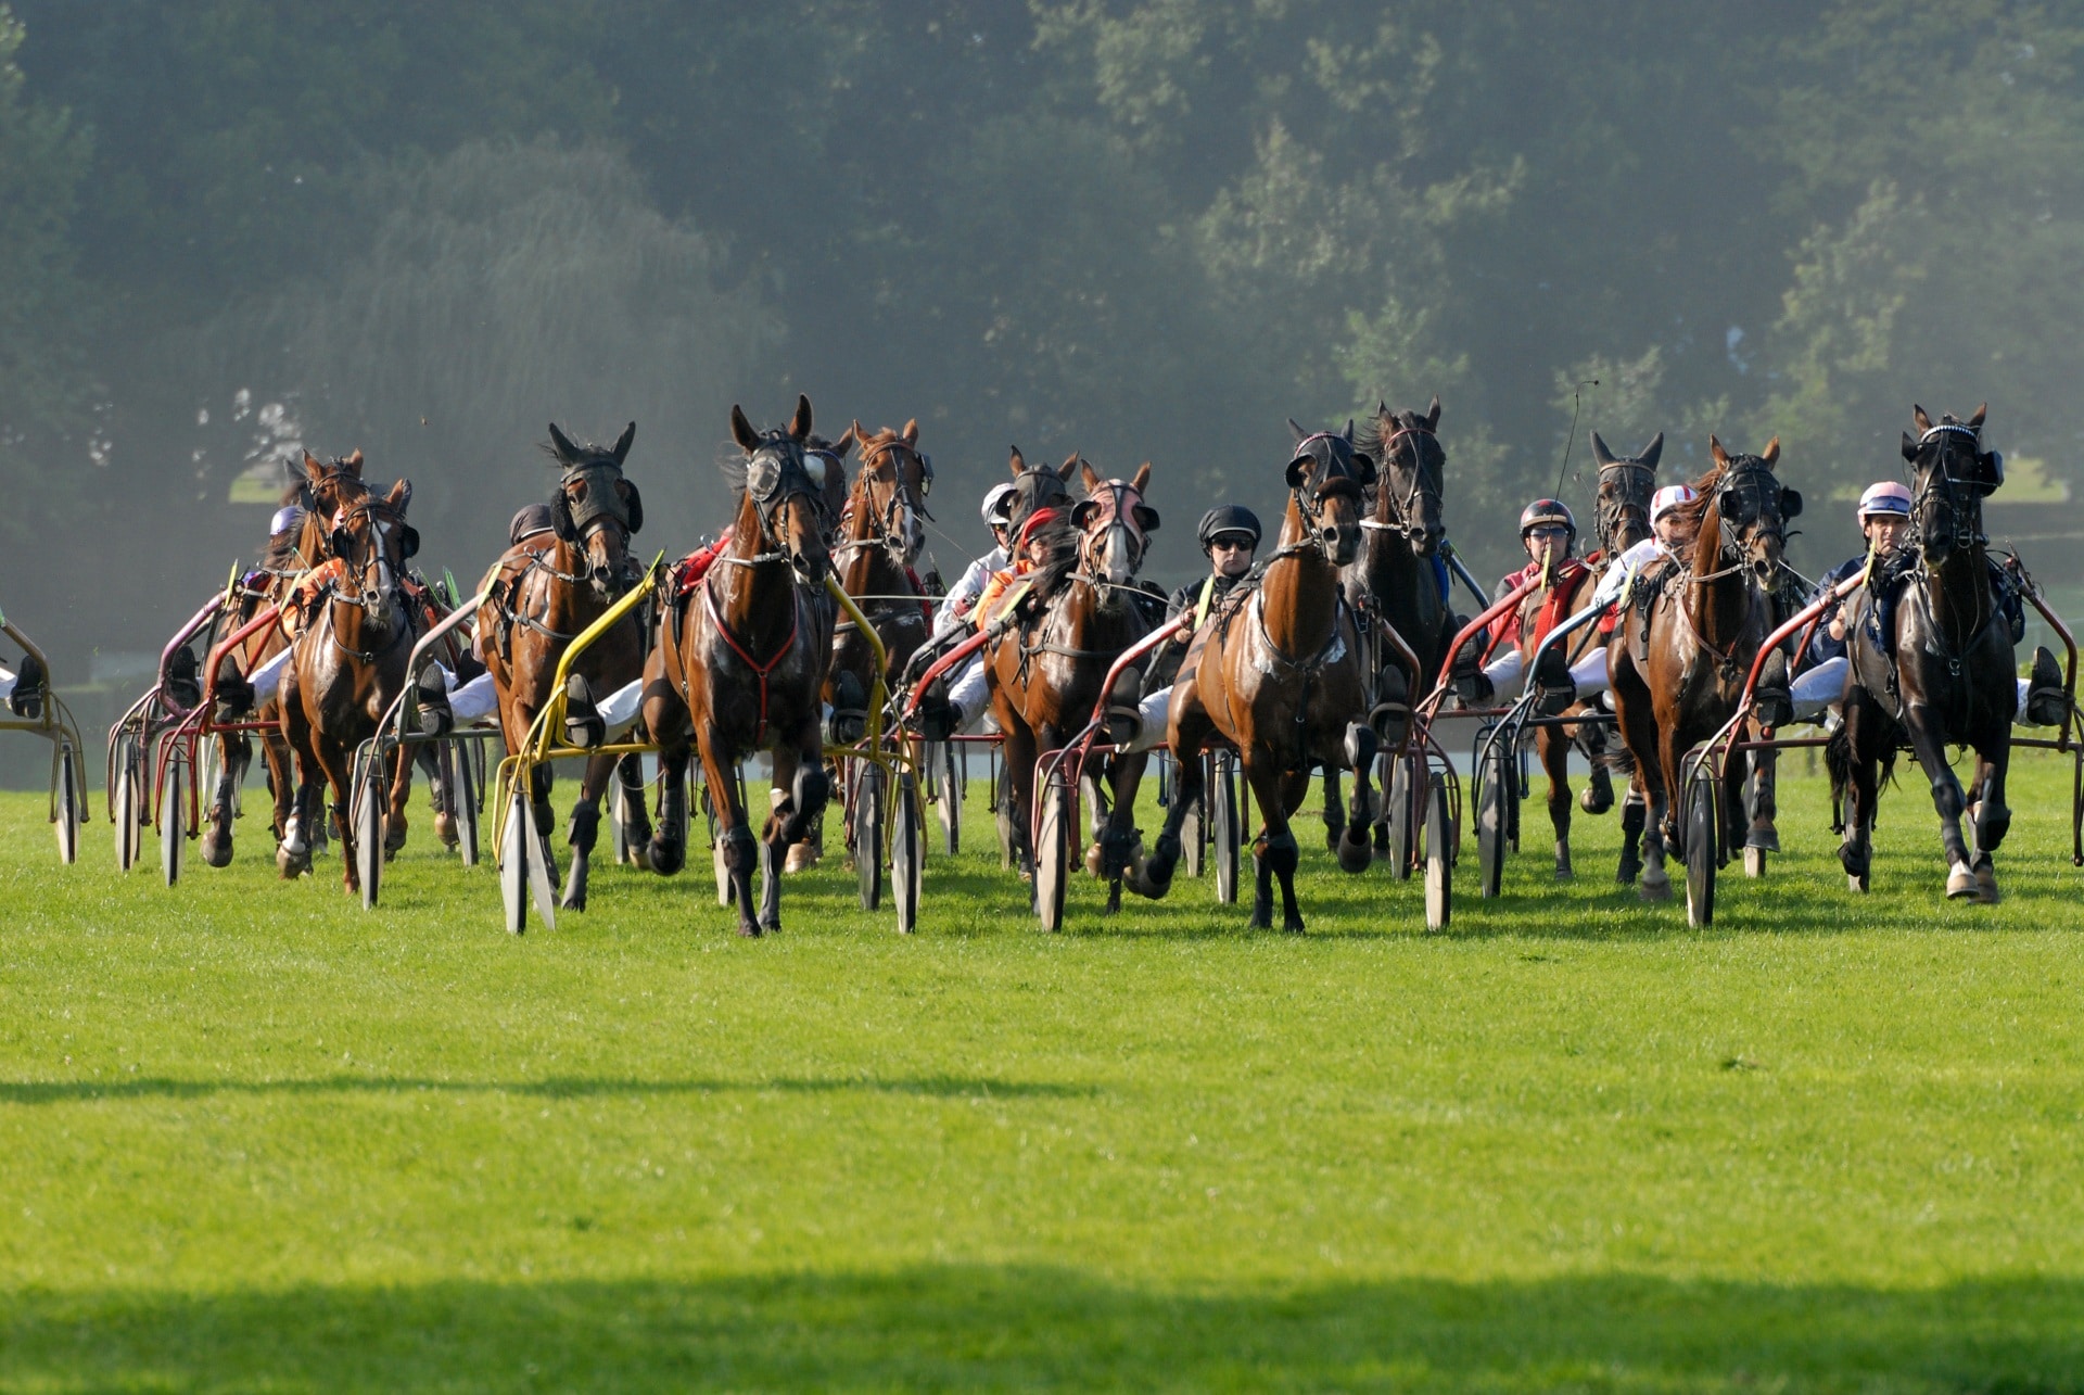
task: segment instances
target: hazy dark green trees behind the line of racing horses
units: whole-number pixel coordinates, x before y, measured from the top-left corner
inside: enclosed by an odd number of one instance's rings
[[[1434,394],[1492,576],[1573,409],[1582,519],[1586,430],[1663,430],[1665,478],[1778,432],[1815,573],[1911,402],[1986,398],[1994,540],[2084,576],[2076,6],[0,15],[0,607],[67,686],[140,690],[117,657],[258,553],[306,446],[411,478],[421,561],[469,586],[548,421],[636,419],[640,544],[686,553],[729,405],[798,390],[834,436],[921,421],[950,576],[1009,444],[1152,461],[1171,584],[1202,509],[1277,513],[1286,417]]]

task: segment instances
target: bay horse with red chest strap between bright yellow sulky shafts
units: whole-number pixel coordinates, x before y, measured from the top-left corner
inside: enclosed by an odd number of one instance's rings
[[[671,876],[688,857],[688,759],[700,751],[717,815],[723,865],[738,901],[738,932],[782,928],[782,855],[825,809],[819,690],[832,661],[834,607],[823,592],[823,484],[804,465],[811,400],[796,398],[786,430],[756,432],[731,407],[731,438],[744,450],[744,488],[731,542],[688,588],[675,586],[644,661],[644,728],[659,742],[665,790],[650,840],[652,872]],[[754,853],[738,794],[738,761],[773,757],[773,801]],[[752,863],[761,907],[752,909]]]

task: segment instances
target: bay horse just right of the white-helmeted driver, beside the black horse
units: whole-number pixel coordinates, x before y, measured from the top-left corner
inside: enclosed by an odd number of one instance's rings
[[[1692,557],[1646,582],[1657,590],[1642,630],[1623,619],[1607,648],[1621,740],[1648,797],[1638,886],[1644,901],[1671,895],[1665,849],[1682,849],[1682,761],[1736,715],[1753,659],[1771,630],[1786,519],[1801,509],[1801,496],[1773,475],[1778,436],[1761,455],[1728,455],[1713,436],[1707,444],[1715,465],[1694,482],[1698,498],[1680,505],[1682,530],[1694,534]],[[1730,826],[1744,769],[1744,761],[1723,769]],[[1767,801],[1769,790],[1761,803]],[[1771,817],[1769,807],[1765,813]]]

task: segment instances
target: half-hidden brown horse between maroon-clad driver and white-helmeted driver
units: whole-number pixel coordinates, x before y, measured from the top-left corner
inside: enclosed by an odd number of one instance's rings
[[[1651,536],[1651,496],[1657,492],[1657,461],[1663,452],[1663,432],[1653,436],[1651,444],[1634,457],[1613,455],[1613,450],[1607,448],[1607,442],[1598,438],[1598,432],[1592,432],[1592,461],[1598,465],[1598,555],[1605,559],[1607,567],[1611,567],[1621,553]],[[1550,630],[1592,605],[1596,580],[1598,567],[1563,563],[1561,567],[1550,569],[1548,584],[1544,588],[1519,605],[1519,655],[1528,665],[1534,663],[1534,648],[1548,636]],[[1573,665],[1584,659],[1594,644],[1603,642],[1605,636],[1598,634],[1598,626],[1586,626],[1571,636],[1569,653],[1559,653],[1559,659],[1563,665]],[[1561,644],[1557,648],[1561,648]],[[1528,674],[1528,682],[1534,682],[1532,669]],[[1584,703],[1573,703],[1557,715],[1586,715],[1588,711],[1590,709]],[[1586,759],[1592,763],[1592,774],[1580,801],[1586,813],[1605,813],[1613,807],[1613,765],[1617,757],[1626,765],[1626,753],[1609,755],[1607,728],[1603,724],[1588,721],[1584,726],[1534,728],[1534,755],[1540,759],[1542,769],[1548,776],[1548,824],[1555,828],[1557,836],[1557,880],[1571,876],[1569,751],[1573,744],[1584,751]],[[1628,772],[1623,769],[1623,774]],[[1634,807],[1621,809],[1621,824],[1626,830],[1630,813],[1634,813],[1634,832],[1623,832],[1623,842],[1634,847],[1642,838],[1644,803],[1634,790],[1630,790],[1630,799],[1634,801]]]

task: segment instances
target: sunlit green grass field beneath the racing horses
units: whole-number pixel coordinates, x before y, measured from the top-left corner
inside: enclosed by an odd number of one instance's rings
[[[508,938],[421,799],[363,913],[4,797],[0,1389],[2084,1391],[2067,767],[1965,907],[1790,765],[1707,934],[1532,807],[1446,936],[1321,840],[1307,938],[1044,936],[973,807],[921,934],[827,863],[744,943],[627,870]]]

